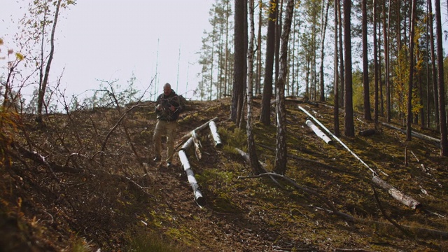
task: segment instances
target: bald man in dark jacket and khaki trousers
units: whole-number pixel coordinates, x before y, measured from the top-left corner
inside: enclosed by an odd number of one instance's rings
[[[163,86],[163,94],[157,98],[155,113],[157,113],[157,124],[154,130],[154,161],[161,160],[162,153],[162,134],[167,135],[167,167],[172,166],[174,155],[174,137],[176,136],[177,118],[183,110],[179,96],[172,90],[171,85],[166,83]]]

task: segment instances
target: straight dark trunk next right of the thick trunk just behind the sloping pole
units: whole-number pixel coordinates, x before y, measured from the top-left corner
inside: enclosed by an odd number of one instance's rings
[[[363,87],[364,87],[364,119],[372,120],[370,114],[369,59],[367,58],[367,0],[361,1],[363,10]]]

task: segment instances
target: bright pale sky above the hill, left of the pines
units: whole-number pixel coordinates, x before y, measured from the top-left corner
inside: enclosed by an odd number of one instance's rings
[[[26,6],[25,2],[4,0],[1,4],[0,37],[6,43],[17,31],[16,22],[26,10],[20,6]],[[82,97],[88,94],[86,90],[98,89],[100,80],[118,80],[124,86],[134,74],[139,90],[146,90],[154,79],[158,92],[171,83],[178,94],[192,97],[201,70],[197,52],[204,30],[209,30],[212,3],[78,0],[62,10],[57,22],[50,81],[62,74],[60,87],[66,96]]]

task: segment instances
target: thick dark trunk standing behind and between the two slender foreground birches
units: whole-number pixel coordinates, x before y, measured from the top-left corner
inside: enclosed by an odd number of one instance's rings
[[[260,122],[264,125],[271,124],[272,71],[274,69],[276,15],[276,1],[271,0],[269,2],[269,20],[267,21],[265,80],[263,83],[264,86],[260,115]]]

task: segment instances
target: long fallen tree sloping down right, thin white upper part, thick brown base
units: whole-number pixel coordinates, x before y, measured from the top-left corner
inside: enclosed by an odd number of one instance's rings
[[[404,195],[403,193],[401,193],[399,190],[397,190],[396,188],[393,188],[393,186],[388,185],[388,183],[386,183],[386,181],[383,181],[381,179],[379,179],[379,177],[377,176],[377,173],[374,172],[374,170],[372,168],[370,168],[363,160],[361,160],[358,155],[356,155],[355,153],[353,153],[353,151],[350,150],[349,147],[347,147],[344,142],[342,142],[338,137],[336,137],[334,134],[332,134],[330,132],[330,130],[327,129],[327,127],[325,127],[321,122],[319,122],[314,116],[312,116],[308,111],[306,111],[305,109],[302,108],[302,106],[298,106],[300,110],[302,110],[304,113],[306,113],[310,118],[312,118],[318,125],[320,125],[323,130],[325,130],[326,132],[328,132],[328,134],[330,134],[334,139],[336,139],[337,141],[339,141],[340,144],[342,144],[342,146],[344,146],[344,148],[346,148],[347,151],[349,151],[356,159],[358,159],[363,165],[365,165],[365,167],[367,167],[370,172],[372,172],[372,181],[379,186],[380,188],[383,188],[384,190],[386,190],[389,195],[391,195],[395,200],[400,201],[402,204],[405,204],[407,207],[411,207],[412,209],[417,209],[419,207],[421,207],[421,203],[414,200],[412,197]],[[384,172],[383,172],[384,174]],[[387,175],[387,174],[386,174]]]

